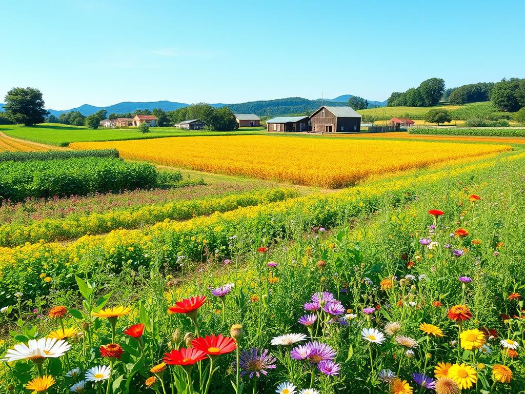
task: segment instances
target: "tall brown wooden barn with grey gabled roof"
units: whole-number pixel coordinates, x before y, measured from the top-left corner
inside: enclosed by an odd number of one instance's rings
[[[322,133],[361,131],[361,115],[351,107],[322,106],[310,116],[312,131]]]

